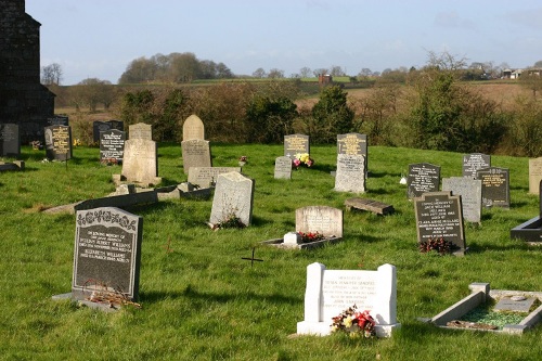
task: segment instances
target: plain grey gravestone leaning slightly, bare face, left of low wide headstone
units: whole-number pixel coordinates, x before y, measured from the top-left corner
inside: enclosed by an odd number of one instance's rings
[[[253,219],[254,180],[232,171],[219,175],[212,198],[212,209],[209,222],[221,222],[236,217],[249,225]]]

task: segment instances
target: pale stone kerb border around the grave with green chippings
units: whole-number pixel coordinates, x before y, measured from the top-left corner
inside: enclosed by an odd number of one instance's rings
[[[521,322],[519,322],[518,324],[506,324],[504,325],[503,330],[460,328],[447,326],[448,322],[462,318],[478,306],[491,300],[499,300],[503,297],[527,296],[535,297],[540,301],[542,301],[542,292],[490,289],[489,283],[470,283],[468,285],[468,288],[470,289],[470,295],[466,296],[465,298],[461,299],[460,301],[455,302],[454,305],[450,306],[449,308],[430,319],[418,318],[418,320],[448,330],[480,331],[512,335],[521,335],[527,330],[532,328],[534,327],[534,325],[542,322],[542,305],[540,305],[534,311],[530,312],[526,318],[524,318]]]

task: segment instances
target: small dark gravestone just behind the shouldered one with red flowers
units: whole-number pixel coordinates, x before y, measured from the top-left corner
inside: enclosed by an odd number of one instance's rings
[[[440,184],[440,167],[429,163],[409,165],[406,195],[409,199],[427,192],[437,192]]]

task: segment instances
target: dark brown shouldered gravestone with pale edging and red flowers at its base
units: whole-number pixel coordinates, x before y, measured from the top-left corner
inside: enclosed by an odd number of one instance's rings
[[[461,196],[451,192],[424,193],[414,198],[416,214],[417,242],[444,238],[452,242],[459,250],[456,255],[465,254],[465,233]]]

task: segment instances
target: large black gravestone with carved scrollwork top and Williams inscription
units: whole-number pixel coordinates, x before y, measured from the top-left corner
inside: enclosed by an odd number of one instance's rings
[[[78,210],[76,219],[72,297],[106,292],[137,300],[143,218],[104,207]]]

